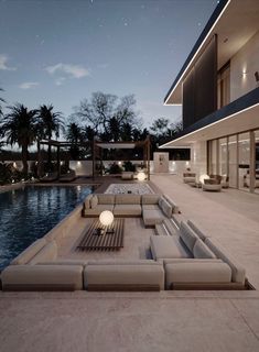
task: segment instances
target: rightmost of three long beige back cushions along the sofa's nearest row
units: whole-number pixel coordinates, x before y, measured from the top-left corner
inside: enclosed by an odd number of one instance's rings
[[[165,265],[166,288],[172,283],[230,283],[231,270],[226,263],[174,263]]]

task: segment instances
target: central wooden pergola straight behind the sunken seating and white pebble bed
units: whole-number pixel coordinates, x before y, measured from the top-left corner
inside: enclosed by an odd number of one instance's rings
[[[94,140],[93,142],[93,178],[96,173],[96,157],[99,155],[100,162],[102,163],[101,153],[99,154],[99,150],[133,150],[136,147],[143,148],[143,163],[147,168],[147,176],[150,179],[150,136],[148,135],[144,141],[138,142],[100,142],[98,140]]]

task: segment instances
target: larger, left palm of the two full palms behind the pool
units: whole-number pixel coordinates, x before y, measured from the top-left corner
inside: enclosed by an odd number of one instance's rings
[[[28,174],[28,148],[35,141],[36,110],[28,110],[23,105],[17,103],[8,107],[10,110],[1,121],[1,138],[7,139],[7,144],[15,144],[22,147],[23,172]]]

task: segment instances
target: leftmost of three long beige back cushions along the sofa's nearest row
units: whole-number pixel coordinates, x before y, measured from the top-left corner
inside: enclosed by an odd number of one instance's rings
[[[82,265],[10,265],[1,273],[3,290],[83,288]]]

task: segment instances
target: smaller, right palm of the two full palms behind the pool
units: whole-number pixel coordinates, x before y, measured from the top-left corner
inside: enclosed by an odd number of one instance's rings
[[[55,138],[57,139],[60,136],[60,132],[64,132],[62,113],[60,111],[54,112],[53,109],[54,107],[52,105],[43,105],[37,110],[37,129],[41,131],[40,138],[46,139],[48,142],[53,134],[55,134]],[[47,163],[48,165],[51,164],[51,144],[48,144]]]

